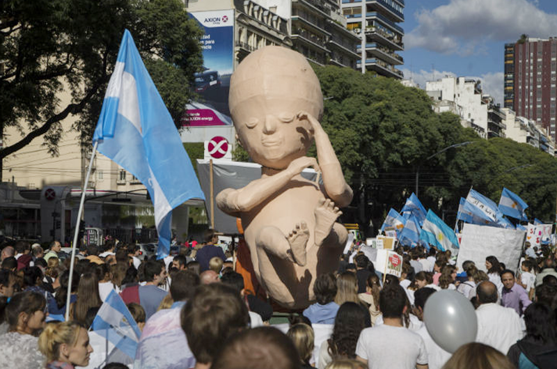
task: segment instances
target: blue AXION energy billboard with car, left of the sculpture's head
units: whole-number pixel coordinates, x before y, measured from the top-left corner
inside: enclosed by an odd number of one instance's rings
[[[230,75],[234,70],[234,10],[189,13],[205,35],[203,71],[195,74],[196,101],[187,105],[182,123],[189,127],[232,125],[228,110]]]

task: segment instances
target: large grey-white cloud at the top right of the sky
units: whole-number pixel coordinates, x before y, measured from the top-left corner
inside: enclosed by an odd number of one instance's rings
[[[432,10],[418,10],[418,26],[405,36],[405,47],[444,54],[486,53],[489,41],[557,36],[557,15],[527,0],[450,0]],[[499,52],[499,51],[498,51]]]

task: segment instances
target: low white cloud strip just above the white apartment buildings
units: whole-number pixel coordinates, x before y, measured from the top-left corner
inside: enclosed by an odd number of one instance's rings
[[[482,81],[482,91],[486,95],[493,97],[496,103],[500,103],[503,106],[503,72],[489,72],[482,74],[480,76],[457,76],[453,72],[439,70],[420,70],[418,72],[411,72],[407,68],[402,68],[402,72],[405,74],[405,79],[411,79],[415,84],[418,84],[420,88],[425,89],[425,82],[435,81],[443,77],[468,77],[471,79],[480,79]]]

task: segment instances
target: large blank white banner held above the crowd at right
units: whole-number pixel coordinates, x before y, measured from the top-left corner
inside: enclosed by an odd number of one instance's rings
[[[505,263],[505,267],[516,272],[525,235],[524,230],[464,223],[457,267],[462,270],[462,263],[472,260],[478,269],[486,272],[485,258],[493,255]]]

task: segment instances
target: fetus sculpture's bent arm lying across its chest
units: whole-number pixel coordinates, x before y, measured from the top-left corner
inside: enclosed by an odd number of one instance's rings
[[[233,216],[237,216],[240,212],[249,212],[253,207],[283,189],[292,180],[292,177],[309,166],[313,167],[315,171],[320,171],[315,158],[299,157],[292,160],[285,170],[254,180],[246,187],[224,189],[217,195],[217,206],[223,212]]]

